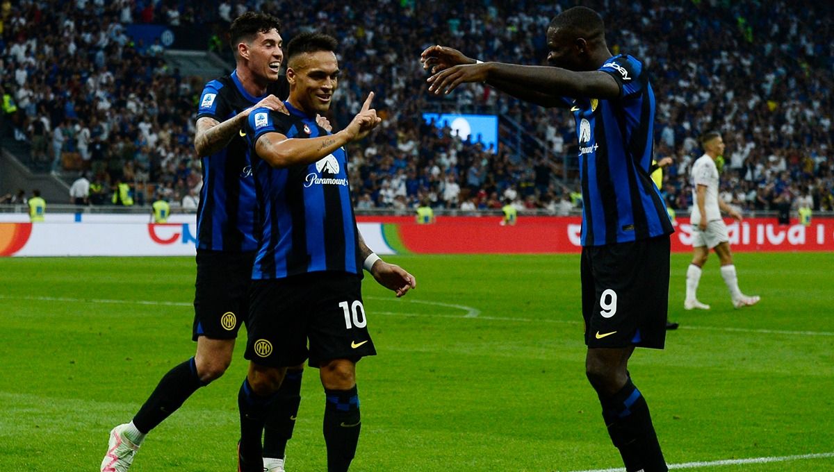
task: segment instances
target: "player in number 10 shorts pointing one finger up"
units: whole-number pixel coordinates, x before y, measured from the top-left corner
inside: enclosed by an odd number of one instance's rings
[[[256,108],[246,125],[259,201],[258,250],[252,271],[251,314],[241,385],[239,470],[261,472],[266,409],[288,366],[309,359],[324,386],[324,440],[329,472],[348,470],[361,420],[356,363],[375,355],[362,303],[363,268],[404,296],[414,277],[379,259],[364,244],[350,201],[344,145],[381,120],[373,93],[344,130],[331,134],[315,121],[339,82],[336,40],[299,34],[287,47],[289,115]]]

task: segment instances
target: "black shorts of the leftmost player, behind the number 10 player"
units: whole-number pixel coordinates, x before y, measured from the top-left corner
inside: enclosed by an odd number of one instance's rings
[[[249,285],[254,251],[197,251],[192,340],[238,337],[249,317]]]

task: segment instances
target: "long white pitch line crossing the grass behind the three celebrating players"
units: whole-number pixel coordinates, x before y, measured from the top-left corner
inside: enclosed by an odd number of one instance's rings
[[[365,297],[368,300],[383,300],[401,302],[404,300],[396,300],[380,296]],[[148,300],[110,300],[101,298],[68,298],[58,296],[6,296],[0,295],[0,300],[32,300],[32,301],[68,301],[75,303],[112,303],[118,305],[158,305],[158,306],[193,306],[193,303],[185,303],[181,301],[148,301]],[[480,311],[465,305],[453,305],[450,303],[440,303],[438,301],[422,301],[410,300],[411,303],[421,303],[425,305],[446,306],[466,311],[465,315],[441,315],[435,313],[402,313],[399,311],[374,311],[372,315],[390,315],[390,316],[425,316],[430,318],[451,318],[451,319],[476,319],[476,320],[490,320],[490,321],[515,321],[519,323],[555,323],[559,325],[580,325],[580,320],[550,320],[533,318],[514,318],[511,316],[482,316]],[[738,333],[760,333],[766,335],[799,335],[799,336],[834,336],[831,331],[791,331],[791,330],[760,330],[753,328],[733,328],[728,326],[681,326],[680,330],[712,330]]]

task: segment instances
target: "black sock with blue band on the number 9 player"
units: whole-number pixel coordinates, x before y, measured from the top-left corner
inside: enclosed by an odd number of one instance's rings
[[[661,445],[651,424],[649,405],[631,378],[617,393],[602,402],[602,417],[611,442],[620,450],[629,472],[666,472]]]

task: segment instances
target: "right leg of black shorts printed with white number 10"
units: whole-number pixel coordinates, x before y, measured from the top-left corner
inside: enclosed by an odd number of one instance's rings
[[[358,361],[376,355],[362,301],[362,281],[348,273],[321,273],[316,279],[319,301],[310,313],[309,364],[334,359]]]

